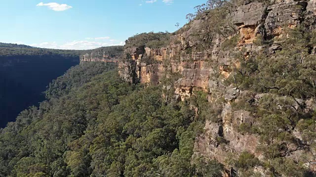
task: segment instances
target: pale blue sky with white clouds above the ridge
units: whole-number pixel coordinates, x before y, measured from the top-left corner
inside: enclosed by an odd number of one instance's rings
[[[43,48],[123,45],[136,33],[173,32],[206,0],[0,0],[0,42]]]

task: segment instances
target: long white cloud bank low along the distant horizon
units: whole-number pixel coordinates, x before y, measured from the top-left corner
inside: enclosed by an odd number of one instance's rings
[[[42,42],[40,44],[31,44],[34,47],[40,48],[47,48],[47,49],[68,49],[68,50],[86,50],[86,49],[96,49],[99,47],[106,47],[106,46],[116,46],[116,45],[125,45],[125,42],[95,42],[95,41],[72,41],[66,42],[64,44],[58,45],[56,42]]]

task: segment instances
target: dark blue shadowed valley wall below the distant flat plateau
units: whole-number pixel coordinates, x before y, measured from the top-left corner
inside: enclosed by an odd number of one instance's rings
[[[0,128],[29,106],[38,106],[46,86],[77,64],[79,56],[0,57]]]

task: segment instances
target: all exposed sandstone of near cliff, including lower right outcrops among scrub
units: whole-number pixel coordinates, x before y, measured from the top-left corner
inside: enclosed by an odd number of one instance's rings
[[[208,101],[220,107],[219,121],[206,121],[205,132],[197,137],[196,151],[217,159],[230,170],[230,159],[238,158],[243,151],[254,154],[261,161],[267,157],[258,150],[263,144],[260,136],[242,133],[238,128],[243,124],[256,124],[257,114],[232,108],[232,105],[244,102],[243,98],[249,92],[225,82],[229,78],[236,79],[232,74],[240,68],[238,59],[247,60],[262,53],[266,53],[268,58],[275,58],[276,52],[282,50],[281,42],[289,30],[315,29],[316,1],[248,1],[238,7],[229,7],[225,12],[213,11],[205,12],[182,29],[169,34],[168,45],[158,48],[150,48],[146,44],[125,47],[124,58],[119,61],[119,74],[127,82],[157,85],[172,74],[179,73],[180,78],[172,86],[179,100],[185,100],[198,90],[207,92]],[[267,41],[270,43],[265,45]],[[251,102],[258,105],[262,97],[263,94],[254,94]],[[296,105],[299,104],[298,98],[294,100]],[[310,108],[311,105],[306,107]],[[304,141],[297,128],[287,131],[297,141]],[[297,164],[304,163],[315,172],[316,165],[310,163],[315,160],[315,149],[303,145],[296,147],[295,143],[288,143],[284,148],[287,149],[284,157]],[[268,176],[266,169],[255,167],[254,172]],[[228,171],[228,174],[232,173],[234,170]]]

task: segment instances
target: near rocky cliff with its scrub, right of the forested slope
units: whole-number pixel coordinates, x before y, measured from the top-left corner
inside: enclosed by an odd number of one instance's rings
[[[230,1],[197,10],[174,33],[130,37],[121,78],[162,84],[178,101],[206,93],[206,108],[192,105],[207,117],[195,149],[226,174],[316,172],[316,2]]]

